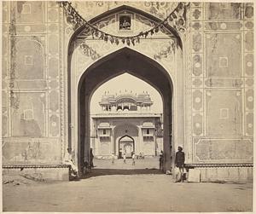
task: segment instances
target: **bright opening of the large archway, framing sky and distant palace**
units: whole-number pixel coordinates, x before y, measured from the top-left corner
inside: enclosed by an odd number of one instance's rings
[[[157,156],[163,147],[162,115],[160,93],[140,78],[125,72],[100,85],[90,99],[90,147],[97,167],[112,168],[109,159],[113,156],[121,159],[123,153],[129,159],[131,152],[136,158],[146,158],[141,161],[141,167],[159,165]],[[131,138],[135,147],[127,145],[128,149],[124,149]],[[116,161],[115,167],[119,163],[122,161]]]

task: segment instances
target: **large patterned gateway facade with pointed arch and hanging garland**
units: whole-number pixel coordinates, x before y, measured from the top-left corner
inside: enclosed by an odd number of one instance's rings
[[[2,14],[3,168],[55,172],[70,148],[80,171],[90,97],[127,72],[162,96],[165,171],[182,145],[201,181],[253,179],[253,3],[18,1]]]

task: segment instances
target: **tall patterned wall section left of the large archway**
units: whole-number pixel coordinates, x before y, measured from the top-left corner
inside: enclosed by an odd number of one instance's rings
[[[60,162],[64,139],[59,6],[4,2],[3,23],[3,159]]]

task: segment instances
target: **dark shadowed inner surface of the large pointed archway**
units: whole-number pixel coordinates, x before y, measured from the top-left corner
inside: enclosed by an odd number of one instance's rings
[[[119,49],[90,66],[79,81],[79,142],[78,165],[90,156],[90,99],[94,91],[104,82],[122,73],[143,79],[159,91],[163,100],[164,124],[164,169],[172,168],[172,79],[169,73],[145,55],[129,48]]]

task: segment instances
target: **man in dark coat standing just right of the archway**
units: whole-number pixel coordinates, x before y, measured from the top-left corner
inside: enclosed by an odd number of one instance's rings
[[[177,167],[176,182],[183,182],[183,172],[185,163],[185,153],[183,153],[183,147],[177,147],[177,153],[175,155],[175,165]]]

